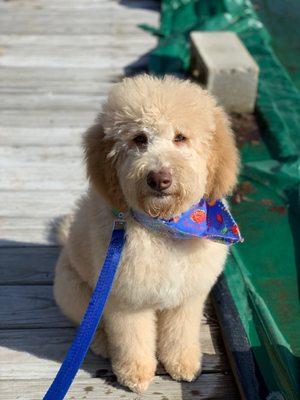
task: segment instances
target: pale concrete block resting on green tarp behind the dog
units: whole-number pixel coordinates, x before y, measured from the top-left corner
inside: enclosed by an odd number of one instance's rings
[[[191,33],[192,73],[229,112],[252,112],[259,68],[234,32]]]

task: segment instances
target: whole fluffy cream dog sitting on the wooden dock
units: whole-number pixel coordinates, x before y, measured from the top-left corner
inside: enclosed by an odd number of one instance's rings
[[[91,185],[70,226],[54,285],[58,305],[77,324],[106,254],[113,208],[165,218],[181,214],[203,196],[228,194],[239,164],[222,109],[198,85],[171,77],[141,75],[114,85],[84,148]],[[129,214],[126,235],[92,349],[109,356],[118,381],[136,392],[148,387],[157,359],[174,379],[192,381],[201,366],[203,305],[227,247],[163,237]]]

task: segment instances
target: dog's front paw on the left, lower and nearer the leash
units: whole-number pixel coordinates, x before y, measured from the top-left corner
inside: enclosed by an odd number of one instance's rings
[[[149,383],[154,377],[156,362],[153,361],[123,361],[113,363],[113,371],[118,382],[127,386],[135,393],[143,393],[147,390]]]

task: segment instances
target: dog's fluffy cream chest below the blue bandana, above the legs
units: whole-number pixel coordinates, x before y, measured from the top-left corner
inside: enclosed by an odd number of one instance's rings
[[[174,240],[129,229],[114,295],[131,306],[175,307],[206,296],[226,257],[223,245],[205,239]]]

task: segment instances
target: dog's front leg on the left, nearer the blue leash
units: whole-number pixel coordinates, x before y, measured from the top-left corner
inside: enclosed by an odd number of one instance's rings
[[[144,392],[156,369],[156,316],[154,310],[120,310],[105,313],[112,368],[119,383]]]

